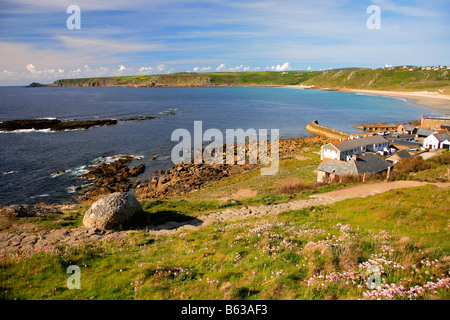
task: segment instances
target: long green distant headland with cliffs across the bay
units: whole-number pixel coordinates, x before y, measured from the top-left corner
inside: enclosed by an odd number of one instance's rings
[[[315,89],[434,91],[450,94],[450,70],[402,66],[382,69],[345,68],[325,71],[175,73],[57,80],[51,87],[211,87],[303,85]],[[30,86],[41,86],[31,84]]]

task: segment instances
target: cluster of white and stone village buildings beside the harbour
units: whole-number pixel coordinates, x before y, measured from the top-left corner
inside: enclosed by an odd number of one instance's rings
[[[326,130],[314,123],[318,131],[327,135],[336,130]],[[375,125],[365,127],[372,132],[350,135],[349,139],[327,143],[321,147],[317,182],[333,182],[347,175],[386,173],[389,178],[393,166],[405,158],[418,155],[422,158],[437,155],[450,148],[450,117],[421,115],[418,126],[400,124],[398,126]],[[377,131],[377,129],[379,131]],[[390,131],[383,130],[390,129]],[[343,133],[345,134],[345,133]]]

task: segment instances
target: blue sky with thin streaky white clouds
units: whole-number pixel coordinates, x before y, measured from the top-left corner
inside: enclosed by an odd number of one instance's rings
[[[72,20],[80,8],[80,19]],[[367,21],[380,9],[379,28]],[[373,16],[372,16],[373,17]],[[67,21],[79,21],[69,29]],[[450,65],[450,0],[0,0],[0,85]]]

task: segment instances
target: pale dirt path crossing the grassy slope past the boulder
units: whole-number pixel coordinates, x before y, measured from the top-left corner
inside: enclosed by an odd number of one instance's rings
[[[181,231],[195,230],[218,221],[235,221],[265,215],[276,215],[290,210],[301,210],[311,206],[330,205],[345,199],[368,197],[378,193],[387,192],[394,189],[420,187],[427,184],[436,185],[439,188],[448,188],[450,183],[427,183],[417,181],[394,181],[363,184],[335,190],[327,193],[312,195],[305,200],[296,200],[276,205],[249,206],[240,209],[229,208],[222,211],[199,216],[188,222],[167,222],[158,226],[148,226],[146,231],[153,235],[168,235]],[[73,229],[55,229],[45,231],[36,235],[27,232],[3,232],[0,233],[0,254],[16,250],[45,249],[45,247],[55,243],[74,243],[77,241],[96,241],[108,237],[124,236],[130,231],[101,232],[90,230],[85,227]]]

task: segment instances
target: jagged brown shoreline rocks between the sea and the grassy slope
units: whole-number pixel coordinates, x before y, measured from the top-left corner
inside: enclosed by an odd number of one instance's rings
[[[324,137],[281,139],[280,158],[289,158],[298,148],[314,147],[329,142]],[[246,149],[248,156],[248,148]],[[224,155],[225,156],[225,155]],[[135,192],[141,199],[171,197],[199,190],[209,182],[236,176],[260,167],[258,164],[177,164],[168,170],[160,170],[142,176],[145,165],[128,167],[136,160],[133,156],[117,156],[113,161],[86,167],[87,173],[80,177],[92,180],[84,187],[76,187],[80,201],[93,201],[112,192]],[[224,161],[225,162],[225,161]],[[248,161],[246,162],[248,163]],[[58,174],[60,172],[56,172]],[[131,181],[130,178],[136,178]]]

